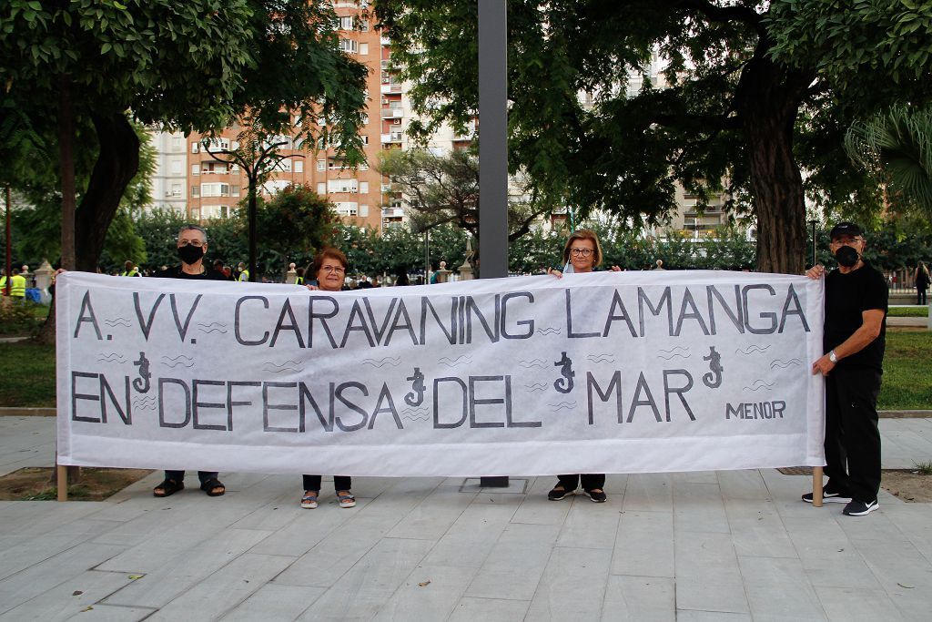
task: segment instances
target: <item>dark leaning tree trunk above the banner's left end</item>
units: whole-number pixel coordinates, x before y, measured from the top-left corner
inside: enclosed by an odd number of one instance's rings
[[[107,229],[139,170],[139,137],[123,113],[91,115],[100,153],[75,217],[76,269],[97,270]]]

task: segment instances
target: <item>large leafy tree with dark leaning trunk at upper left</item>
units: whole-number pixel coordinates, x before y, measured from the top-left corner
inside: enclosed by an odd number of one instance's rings
[[[58,126],[65,264],[75,248],[77,269],[96,267],[137,171],[127,110],[183,131],[219,130],[249,110],[268,131],[333,135],[348,161],[362,159],[366,70],[337,49],[334,17],[306,0],[8,0],[0,79],[7,100]],[[83,191],[71,173],[82,119],[99,143]]]

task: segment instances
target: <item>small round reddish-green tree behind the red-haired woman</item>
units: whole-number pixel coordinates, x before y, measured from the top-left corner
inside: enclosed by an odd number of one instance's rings
[[[242,227],[249,218],[248,209],[240,207],[237,215]],[[310,187],[288,186],[269,200],[259,200],[255,220],[257,237],[267,251],[279,258],[283,273],[288,270],[289,260],[300,265],[305,259],[307,263],[309,256],[332,243],[339,217],[330,201]],[[269,268],[266,265],[267,271]]]

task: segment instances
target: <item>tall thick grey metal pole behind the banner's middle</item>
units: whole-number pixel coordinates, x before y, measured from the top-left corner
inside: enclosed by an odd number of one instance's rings
[[[479,278],[508,276],[506,0],[479,0]],[[482,477],[507,488],[508,477]]]

